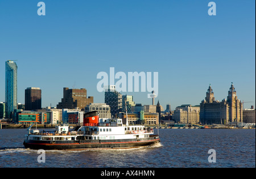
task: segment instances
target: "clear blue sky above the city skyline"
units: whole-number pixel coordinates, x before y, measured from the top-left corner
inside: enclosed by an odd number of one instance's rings
[[[5,61],[18,60],[18,103],[27,87],[42,89],[42,106],[56,106],[63,87],[86,88],[94,102],[100,71],[159,73],[156,101],[172,110],[199,105],[212,84],[216,100],[231,82],[245,108],[255,106],[255,1],[44,0],[0,1],[0,101],[5,101]],[[122,93],[125,94],[125,93]],[[147,92],[135,103],[151,104]]]

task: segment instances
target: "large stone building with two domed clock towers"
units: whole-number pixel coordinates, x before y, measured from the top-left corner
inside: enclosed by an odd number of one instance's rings
[[[203,124],[225,124],[242,122],[242,103],[237,99],[237,92],[232,83],[227,99],[221,102],[214,99],[212,87],[209,86],[205,100],[200,104],[200,122]]]

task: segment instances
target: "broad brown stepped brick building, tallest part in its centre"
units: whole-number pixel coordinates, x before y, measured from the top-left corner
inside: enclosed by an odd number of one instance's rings
[[[57,104],[57,109],[84,109],[90,103],[93,103],[93,96],[87,98],[87,91],[84,88],[63,88],[63,98]]]

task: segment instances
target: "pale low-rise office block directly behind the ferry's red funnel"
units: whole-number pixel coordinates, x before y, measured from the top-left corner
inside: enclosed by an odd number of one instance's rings
[[[99,118],[111,118],[110,106],[106,103],[92,103],[84,108],[84,112],[92,112],[97,110]]]

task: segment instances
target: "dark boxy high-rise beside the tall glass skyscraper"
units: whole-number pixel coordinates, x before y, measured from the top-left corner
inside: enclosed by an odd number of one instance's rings
[[[25,110],[42,108],[42,91],[40,88],[30,87],[25,90]]]

